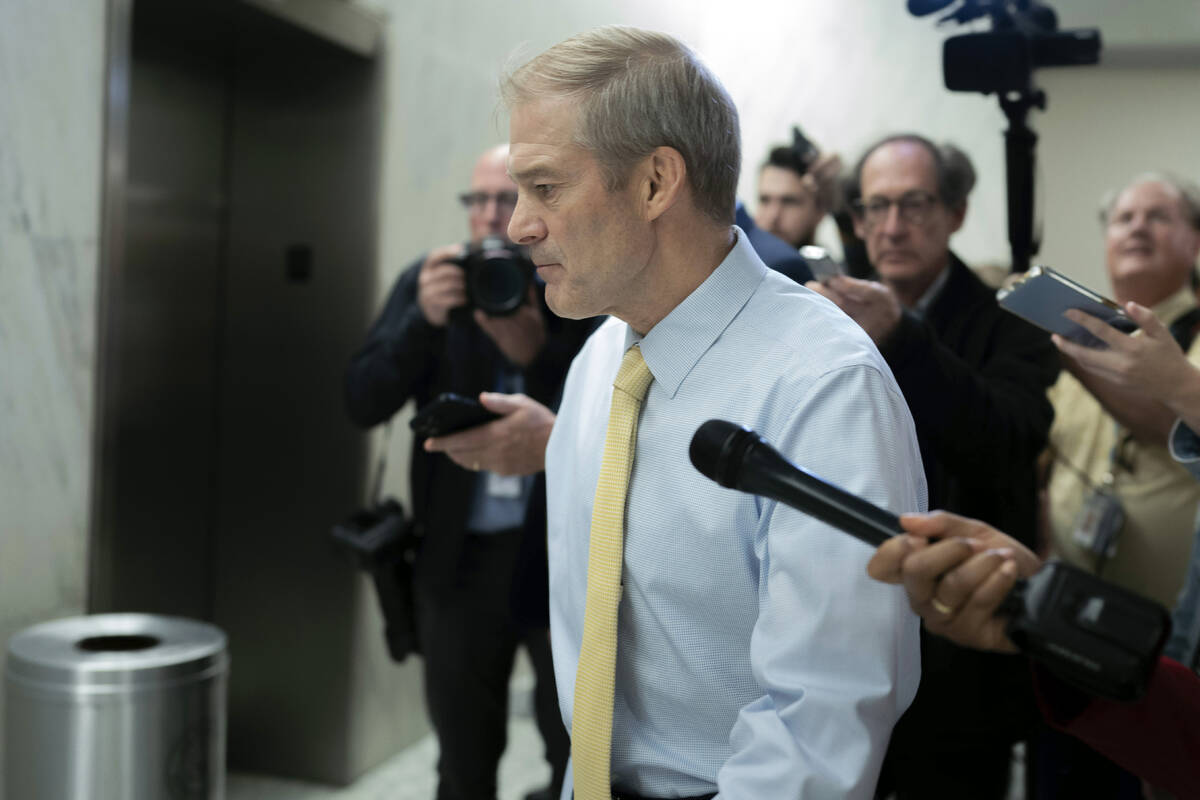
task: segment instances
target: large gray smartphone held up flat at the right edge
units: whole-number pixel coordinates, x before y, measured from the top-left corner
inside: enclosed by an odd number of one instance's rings
[[[1049,266],[1032,267],[1013,285],[997,291],[996,301],[1006,311],[1084,347],[1104,349],[1108,344],[1063,317],[1068,308],[1098,317],[1123,333],[1138,330],[1138,324],[1114,301]]]

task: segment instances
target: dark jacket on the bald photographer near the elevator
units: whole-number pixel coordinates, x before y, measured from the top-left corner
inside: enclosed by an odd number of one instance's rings
[[[451,312],[445,327],[426,321],[416,305],[416,279],[424,263],[416,259],[396,281],[366,344],[350,360],[346,374],[347,409],[355,423],[370,427],[391,417],[409,399],[421,408],[442,392],[475,397],[494,389],[497,366],[504,360],[492,339],[466,311]],[[540,285],[540,284],[539,284]],[[523,371],[526,393],[556,408],[571,359],[598,320],[565,320],[545,307],[546,347]],[[413,519],[424,536],[416,565],[418,581],[434,591],[448,590],[462,552],[476,476],[442,453],[427,453],[413,443]],[[529,499],[526,539],[544,540],[545,481],[538,476]],[[532,552],[536,553],[536,542]],[[540,552],[545,553],[545,545]],[[545,561],[540,571],[545,587]],[[545,593],[542,593],[545,594]],[[538,591],[532,590],[536,597]],[[541,599],[545,603],[545,599]],[[536,615],[536,614],[535,614]]]

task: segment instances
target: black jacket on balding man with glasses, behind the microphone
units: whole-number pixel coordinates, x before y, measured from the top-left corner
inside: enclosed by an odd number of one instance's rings
[[[924,319],[904,313],[880,351],[917,427],[929,507],[983,519],[1036,547],[1036,462],[1058,374],[1050,337],[996,303],[958,257]],[[922,637],[917,699],[893,751],[931,740],[1013,740],[1036,717],[1028,669],[1018,656],[965,650]]]

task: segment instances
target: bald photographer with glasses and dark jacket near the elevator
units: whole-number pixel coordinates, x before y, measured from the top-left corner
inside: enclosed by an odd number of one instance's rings
[[[470,241],[508,241],[516,186],[508,145],[475,163],[460,196]],[[437,247],[397,279],[365,347],[347,372],[352,419],[373,426],[409,399],[418,408],[442,392],[528,395],[553,407],[566,369],[594,323],[559,319],[544,285],[515,313],[469,311],[463,245]],[[416,627],[425,694],[438,738],[438,800],[496,798],[496,770],[508,730],[509,678],[518,644],[536,673],[535,715],[551,786],[530,799],[557,798],[570,751],[551,666],[546,575],[545,477],[502,476],[412,452],[413,521],[424,536],[415,565]]]

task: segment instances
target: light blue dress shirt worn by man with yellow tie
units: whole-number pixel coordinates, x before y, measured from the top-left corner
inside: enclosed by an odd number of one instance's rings
[[[917,437],[862,329],[769,271],[737,233],[713,275],[641,339],[654,383],[626,505],[613,787],[870,798],[917,691],[917,618],[899,588],[866,577],[869,546],[721,488],[688,447],[706,420],[739,422],[899,512],[925,507]],[[617,319],[588,341],[546,452],[551,643],[568,729],[612,380],[635,341]]]

